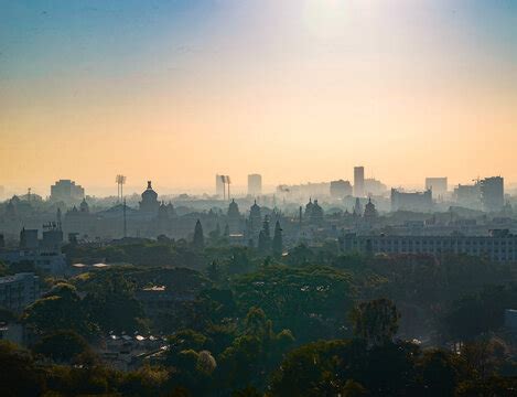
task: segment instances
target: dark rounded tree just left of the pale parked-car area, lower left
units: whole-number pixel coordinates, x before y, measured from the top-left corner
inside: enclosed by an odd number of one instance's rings
[[[43,336],[34,345],[33,352],[56,363],[69,363],[80,354],[88,353],[89,347],[83,336],[74,331],[64,330]]]

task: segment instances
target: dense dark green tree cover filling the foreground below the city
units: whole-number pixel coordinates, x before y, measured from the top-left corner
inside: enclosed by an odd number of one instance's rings
[[[67,247],[72,261],[110,266],[45,280],[52,288],[19,318],[29,351],[0,345],[0,395],[509,396],[517,387],[503,329],[505,309],[517,308],[510,267],[281,245],[276,225],[257,249],[202,229],[192,244]],[[153,293],[168,303],[151,305]],[[106,335],[136,333],[166,336],[168,348],[125,373],[95,353]]]

